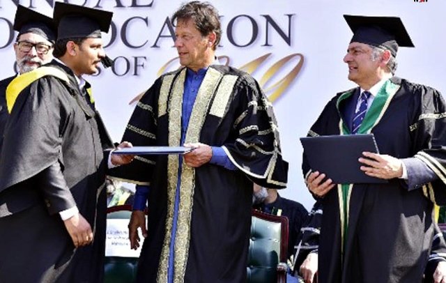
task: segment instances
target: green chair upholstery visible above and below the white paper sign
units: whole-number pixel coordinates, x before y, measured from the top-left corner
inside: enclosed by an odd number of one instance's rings
[[[132,206],[112,206],[107,208],[107,220],[130,219]],[[132,283],[137,274],[137,257],[105,257],[105,283]]]

